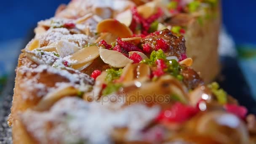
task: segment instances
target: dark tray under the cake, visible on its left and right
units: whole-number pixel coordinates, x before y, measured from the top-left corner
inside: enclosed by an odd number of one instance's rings
[[[30,40],[31,37],[28,37]],[[27,44],[28,40],[24,42]],[[256,101],[251,95],[250,88],[245,81],[243,73],[238,66],[238,61],[231,57],[221,57],[222,71],[216,81],[232,95],[239,103],[247,107],[249,113],[256,114]],[[16,65],[16,64],[15,64]],[[11,128],[7,125],[13,96],[15,73],[8,78],[7,85],[0,95],[0,144],[11,144]]]

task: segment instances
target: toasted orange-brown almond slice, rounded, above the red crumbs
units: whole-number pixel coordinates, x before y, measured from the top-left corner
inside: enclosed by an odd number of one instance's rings
[[[109,32],[120,38],[131,37],[133,34],[131,29],[115,19],[105,19],[99,22],[96,29],[99,33]]]

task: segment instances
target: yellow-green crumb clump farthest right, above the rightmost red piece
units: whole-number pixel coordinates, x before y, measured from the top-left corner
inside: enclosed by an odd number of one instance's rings
[[[217,100],[220,104],[226,104],[227,103],[227,93],[222,88],[219,88],[219,84],[216,82],[213,82],[208,85],[208,88],[211,89],[211,92],[216,96]]]

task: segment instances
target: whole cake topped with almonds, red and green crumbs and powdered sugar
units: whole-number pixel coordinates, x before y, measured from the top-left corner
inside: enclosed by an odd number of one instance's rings
[[[207,84],[218,29],[217,0],[60,5],[19,56],[13,143],[255,143],[255,115]]]

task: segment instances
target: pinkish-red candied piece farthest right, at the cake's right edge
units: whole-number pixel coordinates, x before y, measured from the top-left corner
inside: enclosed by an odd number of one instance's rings
[[[236,104],[225,104],[224,108],[227,110],[227,112],[230,112],[237,117],[240,117],[241,119],[244,119],[248,110],[243,106],[238,106]]]

